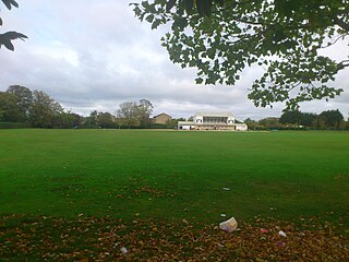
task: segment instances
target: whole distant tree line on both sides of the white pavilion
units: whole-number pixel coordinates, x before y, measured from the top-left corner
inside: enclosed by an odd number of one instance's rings
[[[63,107],[43,91],[31,91],[21,85],[11,85],[5,92],[0,92],[0,128],[174,128],[178,120],[173,119],[167,126],[155,124],[151,118],[154,106],[148,99],[124,102],[115,114],[93,110],[87,117],[67,111]],[[316,129],[344,130],[349,129],[341,112],[326,110],[320,115],[287,110],[279,118],[269,117],[261,120],[245,119],[250,130],[270,129]]]

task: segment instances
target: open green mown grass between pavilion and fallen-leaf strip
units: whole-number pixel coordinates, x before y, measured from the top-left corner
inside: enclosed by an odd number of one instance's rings
[[[349,133],[0,130],[0,215],[335,219]]]

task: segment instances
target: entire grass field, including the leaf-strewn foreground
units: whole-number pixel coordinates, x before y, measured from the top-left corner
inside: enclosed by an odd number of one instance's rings
[[[9,260],[349,258],[349,132],[0,130],[0,184]]]

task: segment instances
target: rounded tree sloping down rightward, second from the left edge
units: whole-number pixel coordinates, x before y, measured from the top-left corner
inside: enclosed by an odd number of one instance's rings
[[[36,128],[53,128],[55,118],[63,112],[62,106],[43,91],[33,92],[29,122]]]

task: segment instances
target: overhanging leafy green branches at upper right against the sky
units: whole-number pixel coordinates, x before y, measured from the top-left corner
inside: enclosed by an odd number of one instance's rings
[[[321,55],[347,43],[348,0],[145,0],[135,15],[157,28],[171,25],[161,41],[170,60],[196,68],[196,83],[233,85],[252,64],[265,68],[249,98],[255,106],[333,98],[333,86],[349,60]]]

